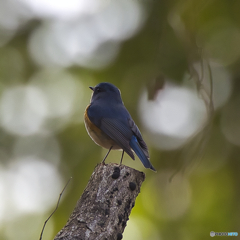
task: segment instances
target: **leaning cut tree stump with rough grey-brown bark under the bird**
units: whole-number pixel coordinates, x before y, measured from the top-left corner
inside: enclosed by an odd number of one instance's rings
[[[124,165],[96,166],[67,224],[54,240],[120,240],[145,175]]]

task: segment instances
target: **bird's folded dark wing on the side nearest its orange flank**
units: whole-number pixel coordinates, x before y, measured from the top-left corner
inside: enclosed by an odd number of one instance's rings
[[[115,118],[102,118],[100,128],[110,138],[112,138],[133,160],[135,159],[129,145],[133,133],[127,124]]]

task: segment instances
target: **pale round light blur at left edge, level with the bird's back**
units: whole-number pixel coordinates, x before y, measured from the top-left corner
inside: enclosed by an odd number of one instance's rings
[[[5,130],[17,135],[37,133],[47,114],[45,96],[39,89],[30,86],[6,89],[0,112]]]

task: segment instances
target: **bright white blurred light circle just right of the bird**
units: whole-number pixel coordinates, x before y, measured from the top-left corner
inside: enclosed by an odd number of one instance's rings
[[[154,100],[143,92],[139,110],[153,145],[163,149],[182,146],[207,120],[206,107],[197,93],[170,83]]]

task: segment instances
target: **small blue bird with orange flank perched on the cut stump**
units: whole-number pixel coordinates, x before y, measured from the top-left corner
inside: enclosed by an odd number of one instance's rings
[[[90,104],[84,112],[84,123],[88,135],[99,146],[108,149],[102,163],[113,150],[123,150],[133,160],[134,153],[145,168],[156,171],[150,162],[148,147],[141,132],[124,106],[120,90],[113,84],[102,82],[89,87],[93,92]]]

